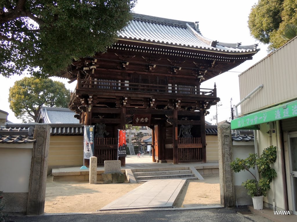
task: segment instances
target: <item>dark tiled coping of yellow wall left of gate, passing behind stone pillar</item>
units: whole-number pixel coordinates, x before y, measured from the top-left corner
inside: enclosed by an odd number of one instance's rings
[[[6,127],[12,129],[28,129],[28,127],[35,127],[38,123],[23,123],[23,124],[6,124]],[[50,135],[83,135],[82,124],[49,124]]]

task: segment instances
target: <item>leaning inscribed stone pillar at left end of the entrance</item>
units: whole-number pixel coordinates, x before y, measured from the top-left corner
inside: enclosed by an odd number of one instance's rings
[[[44,213],[46,176],[48,172],[50,126],[36,125],[34,139],[36,139],[36,142],[32,150],[27,214],[42,215]]]

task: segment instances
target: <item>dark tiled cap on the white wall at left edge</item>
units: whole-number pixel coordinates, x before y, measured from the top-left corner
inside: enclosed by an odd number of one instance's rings
[[[0,143],[33,143],[33,129],[0,128]]]

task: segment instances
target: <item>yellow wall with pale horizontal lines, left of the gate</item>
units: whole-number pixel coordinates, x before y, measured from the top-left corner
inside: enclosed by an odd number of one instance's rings
[[[53,168],[83,164],[83,136],[50,136],[48,174]]]

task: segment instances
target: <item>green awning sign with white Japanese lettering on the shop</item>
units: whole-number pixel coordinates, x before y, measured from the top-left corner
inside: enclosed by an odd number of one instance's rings
[[[261,123],[297,116],[297,100],[231,120],[231,129],[242,129]]]

